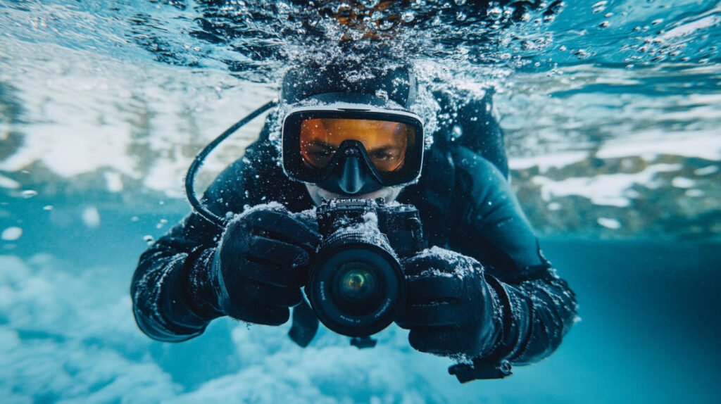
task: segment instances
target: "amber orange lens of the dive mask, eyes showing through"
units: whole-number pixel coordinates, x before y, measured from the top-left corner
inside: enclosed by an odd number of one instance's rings
[[[381,120],[311,118],[301,122],[300,140],[303,161],[316,169],[325,168],[345,140],[358,140],[376,170],[391,172],[403,167],[406,152],[414,147],[415,127]]]

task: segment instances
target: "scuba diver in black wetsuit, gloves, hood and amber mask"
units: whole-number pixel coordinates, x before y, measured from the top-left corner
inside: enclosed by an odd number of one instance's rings
[[[510,188],[490,91],[457,109],[428,146],[412,112],[412,68],[370,70],[353,80],[344,63],[286,73],[260,138],[203,196],[223,225],[192,212],[141,255],[131,296],[143,333],[186,341],[226,315],[279,326],[293,308],[291,338],[309,344],[317,313],[301,288],[325,236],[299,212],[382,198],[415,207],[433,246],[401,260],[405,297],[392,320],[410,330],[413,348],[464,362],[449,369],[461,382],[505,377],[510,364],[557,349],[575,295],[541,255]]]

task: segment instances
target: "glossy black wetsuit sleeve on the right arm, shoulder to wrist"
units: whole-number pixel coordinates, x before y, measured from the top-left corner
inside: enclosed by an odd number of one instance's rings
[[[576,318],[575,295],[541,255],[536,236],[503,174],[485,158],[456,151],[454,212],[465,212],[451,238],[479,259],[503,306],[503,332],[492,356],[528,364],[551,354]]]

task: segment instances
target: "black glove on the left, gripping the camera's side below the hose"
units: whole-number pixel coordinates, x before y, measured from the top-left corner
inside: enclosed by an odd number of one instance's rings
[[[279,326],[301,302],[307,266],[319,233],[282,205],[262,205],[236,216],[213,259],[222,313],[249,323]]]

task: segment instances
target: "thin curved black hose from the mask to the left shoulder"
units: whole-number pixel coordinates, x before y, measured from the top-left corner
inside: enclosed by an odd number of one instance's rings
[[[208,157],[208,154],[210,154],[211,151],[213,151],[213,149],[215,149],[223,140],[226,140],[226,138],[235,133],[236,130],[239,130],[242,126],[258,117],[258,115],[261,115],[263,112],[275,107],[276,105],[278,105],[278,100],[273,99],[273,101],[267,102],[262,107],[251,112],[247,115],[247,117],[235,122],[233,126],[226,129],[224,133],[221,133],[221,135],[215,138],[215,140],[211,143],[208,143],[208,145],[205,146],[200,153],[198,153],[198,156],[195,156],[195,160],[193,160],[193,163],[190,164],[190,168],[187,169],[187,174],[185,175],[185,194],[188,202],[190,202],[190,206],[193,207],[193,210],[195,210],[198,215],[202,216],[205,220],[208,220],[208,222],[213,223],[213,225],[218,226],[218,228],[222,229],[225,227],[225,220],[223,217],[220,217],[208,210],[208,208],[205,207],[205,205],[203,205],[197,197],[195,197],[195,174],[198,173],[200,166],[203,166],[203,161],[205,161],[205,158]]]

